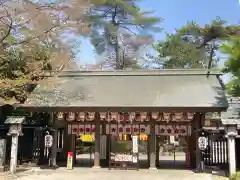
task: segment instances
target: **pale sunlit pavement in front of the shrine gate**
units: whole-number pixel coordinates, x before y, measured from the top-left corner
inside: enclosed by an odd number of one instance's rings
[[[29,170],[17,173],[17,176],[1,176],[0,180],[225,180],[211,174],[196,174],[188,170],[108,170],[75,168],[66,170]]]

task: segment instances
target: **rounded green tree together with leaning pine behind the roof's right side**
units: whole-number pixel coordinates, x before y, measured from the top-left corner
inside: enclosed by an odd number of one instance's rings
[[[158,53],[157,63],[164,68],[215,67],[219,61],[215,52],[220,42],[239,32],[240,26],[226,25],[220,18],[203,27],[188,22],[175,34],[167,35],[166,41],[154,45]]]

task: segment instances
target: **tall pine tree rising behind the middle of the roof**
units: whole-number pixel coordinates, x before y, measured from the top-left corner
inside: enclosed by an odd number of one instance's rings
[[[124,63],[120,60],[121,49],[124,49],[119,40],[121,34],[137,35],[143,31],[160,30],[156,24],[161,19],[151,16],[151,12],[142,12],[137,2],[138,0],[92,0],[92,44],[98,54],[115,56],[117,69],[124,68]]]

